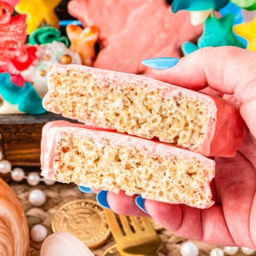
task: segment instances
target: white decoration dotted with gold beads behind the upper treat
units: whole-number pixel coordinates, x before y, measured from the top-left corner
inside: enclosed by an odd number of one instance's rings
[[[54,63],[81,64],[81,58],[65,44],[56,41],[37,45],[37,49],[35,65],[30,65],[26,70],[21,71],[20,75],[25,81],[33,83],[35,90],[43,98],[47,92],[47,73],[51,66]]]

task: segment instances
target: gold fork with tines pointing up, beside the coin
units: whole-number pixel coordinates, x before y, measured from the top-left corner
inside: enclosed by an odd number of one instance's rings
[[[149,218],[129,217],[131,220],[130,225],[126,216],[119,215],[121,226],[125,233],[123,234],[115,213],[108,209],[104,209],[104,211],[111,233],[117,243],[117,248],[121,249],[121,254],[123,254],[123,251],[125,255],[157,255],[157,252],[162,247],[162,242]]]

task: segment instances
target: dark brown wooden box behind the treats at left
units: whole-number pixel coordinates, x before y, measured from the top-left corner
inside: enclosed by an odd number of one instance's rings
[[[40,166],[40,144],[45,123],[59,115],[0,115],[0,150],[13,166]]]

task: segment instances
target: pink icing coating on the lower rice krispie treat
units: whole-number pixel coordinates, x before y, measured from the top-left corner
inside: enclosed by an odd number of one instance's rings
[[[50,180],[55,180],[53,161],[55,157],[56,143],[65,136],[65,133],[76,134],[81,137],[90,137],[99,146],[106,145],[104,139],[108,139],[111,145],[125,145],[127,147],[135,147],[146,151],[151,156],[177,156],[179,158],[193,158],[198,159],[201,164],[212,170],[209,179],[205,181],[205,189],[207,194],[211,196],[210,182],[215,176],[215,162],[198,153],[191,152],[186,149],[181,149],[170,145],[168,143],[142,139],[124,133],[118,133],[112,130],[101,129],[96,126],[86,126],[83,124],[74,124],[67,121],[54,121],[47,123],[43,127],[42,141],[41,141],[41,165],[42,175]],[[61,182],[61,180],[58,180]],[[179,203],[179,202],[177,202]],[[209,204],[207,207],[212,205]]]

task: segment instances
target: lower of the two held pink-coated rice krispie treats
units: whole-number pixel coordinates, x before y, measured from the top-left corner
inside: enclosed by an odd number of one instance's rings
[[[214,203],[214,161],[167,143],[56,121],[43,128],[41,152],[47,179],[202,209]]]

